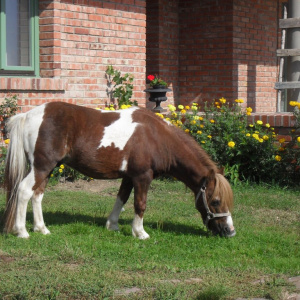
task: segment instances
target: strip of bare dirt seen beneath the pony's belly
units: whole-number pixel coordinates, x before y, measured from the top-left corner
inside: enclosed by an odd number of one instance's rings
[[[117,191],[121,185],[121,180],[76,180],[74,182],[66,181],[60,182],[57,185],[51,187],[58,191],[82,191],[82,192],[92,192],[100,193],[110,188],[115,188]],[[116,191],[116,193],[117,193]]]

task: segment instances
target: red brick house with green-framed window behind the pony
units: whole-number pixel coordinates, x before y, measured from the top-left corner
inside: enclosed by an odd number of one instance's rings
[[[134,75],[140,105],[149,106],[143,91],[155,73],[170,83],[168,103],[242,98],[274,114],[282,2],[0,0],[0,99],[18,93],[22,111],[104,106],[113,65]]]

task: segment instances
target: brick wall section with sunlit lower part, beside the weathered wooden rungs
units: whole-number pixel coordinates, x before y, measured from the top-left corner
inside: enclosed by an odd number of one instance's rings
[[[275,112],[278,1],[234,0],[233,81],[236,97],[256,112]]]

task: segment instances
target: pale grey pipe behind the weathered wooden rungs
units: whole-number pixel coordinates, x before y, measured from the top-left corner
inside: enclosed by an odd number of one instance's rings
[[[300,18],[300,1],[289,0],[288,18]],[[300,28],[287,30],[287,49],[300,49]],[[287,58],[287,81],[300,82],[300,56]],[[300,89],[288,89],[287,100],[300,102]]]

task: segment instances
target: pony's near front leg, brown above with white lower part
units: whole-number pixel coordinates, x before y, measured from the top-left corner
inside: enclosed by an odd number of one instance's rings
[[[146,210],[147,193],[151,181],[152,177],[145,176],[142,180],[134,183],[135,216],[132,222],[132,235],[140,240],[145,240],[150,237],[144,230],[143,217]]]

